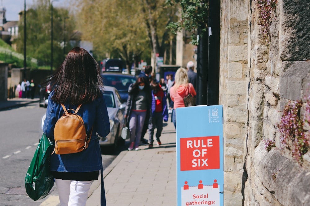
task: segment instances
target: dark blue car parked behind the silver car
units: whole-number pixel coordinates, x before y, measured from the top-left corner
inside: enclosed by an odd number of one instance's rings
[[[122,102],[128,99],[128,87],[136,82],[136,77],[131,74],[106,72],[101,74],[104,86],[113,86],[121,95]]]

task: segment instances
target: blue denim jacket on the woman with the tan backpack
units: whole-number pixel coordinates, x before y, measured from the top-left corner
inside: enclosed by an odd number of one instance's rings
[[[46,119],[44,120],[43,132],[48,138],[54,140],[54,127],[56,121],[63,115],[64,110],[60,103],[55,103],[51,97],[54,91],[48,97]],[[67,109],[76,109],[78,105],[64,104]],[[52,154],[50,169],[59,172],[91,172],[101,170],[101,150],[97,133],[101,137],[106,137],[110,132],[110,122],[107,106],[103,94],[91,103],[82,104],[78,111],[82,117],[86,133],[89,134],[94,125],[91,141],[88,148],[82,152],[72,154]]]

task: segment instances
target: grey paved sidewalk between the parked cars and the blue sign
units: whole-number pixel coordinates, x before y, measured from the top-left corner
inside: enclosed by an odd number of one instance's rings
[[[104,170],[108,206],[176,205],[175,128],[170,119],[164,124],[161,147],[155,140],[153,149],[139,146],[138,151],[122,151]],[[86,206],[100,205],[100,189],[99,178]]]

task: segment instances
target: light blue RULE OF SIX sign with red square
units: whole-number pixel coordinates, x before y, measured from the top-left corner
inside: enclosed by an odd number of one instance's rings
[[[177,205],[224,205],[223,105],[176,108]]]

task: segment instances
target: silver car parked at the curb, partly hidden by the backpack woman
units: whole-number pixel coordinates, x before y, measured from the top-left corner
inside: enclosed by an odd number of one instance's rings
[[[111,86],[104,86],[104,99],[110,119],[110,133],[107,137],[100,137],[98,135],[98,138],[100,145],[107,145],[111,150],[114,150],[118,145],[125,143],[125,140],[121,137],[121,132],[124,126],[124,111],[126,104],[122,104],[121,97],[117,89]],[[39,140],[43,134],[43,124],[45,118],[46,115],[43,115],[39,130]]]

